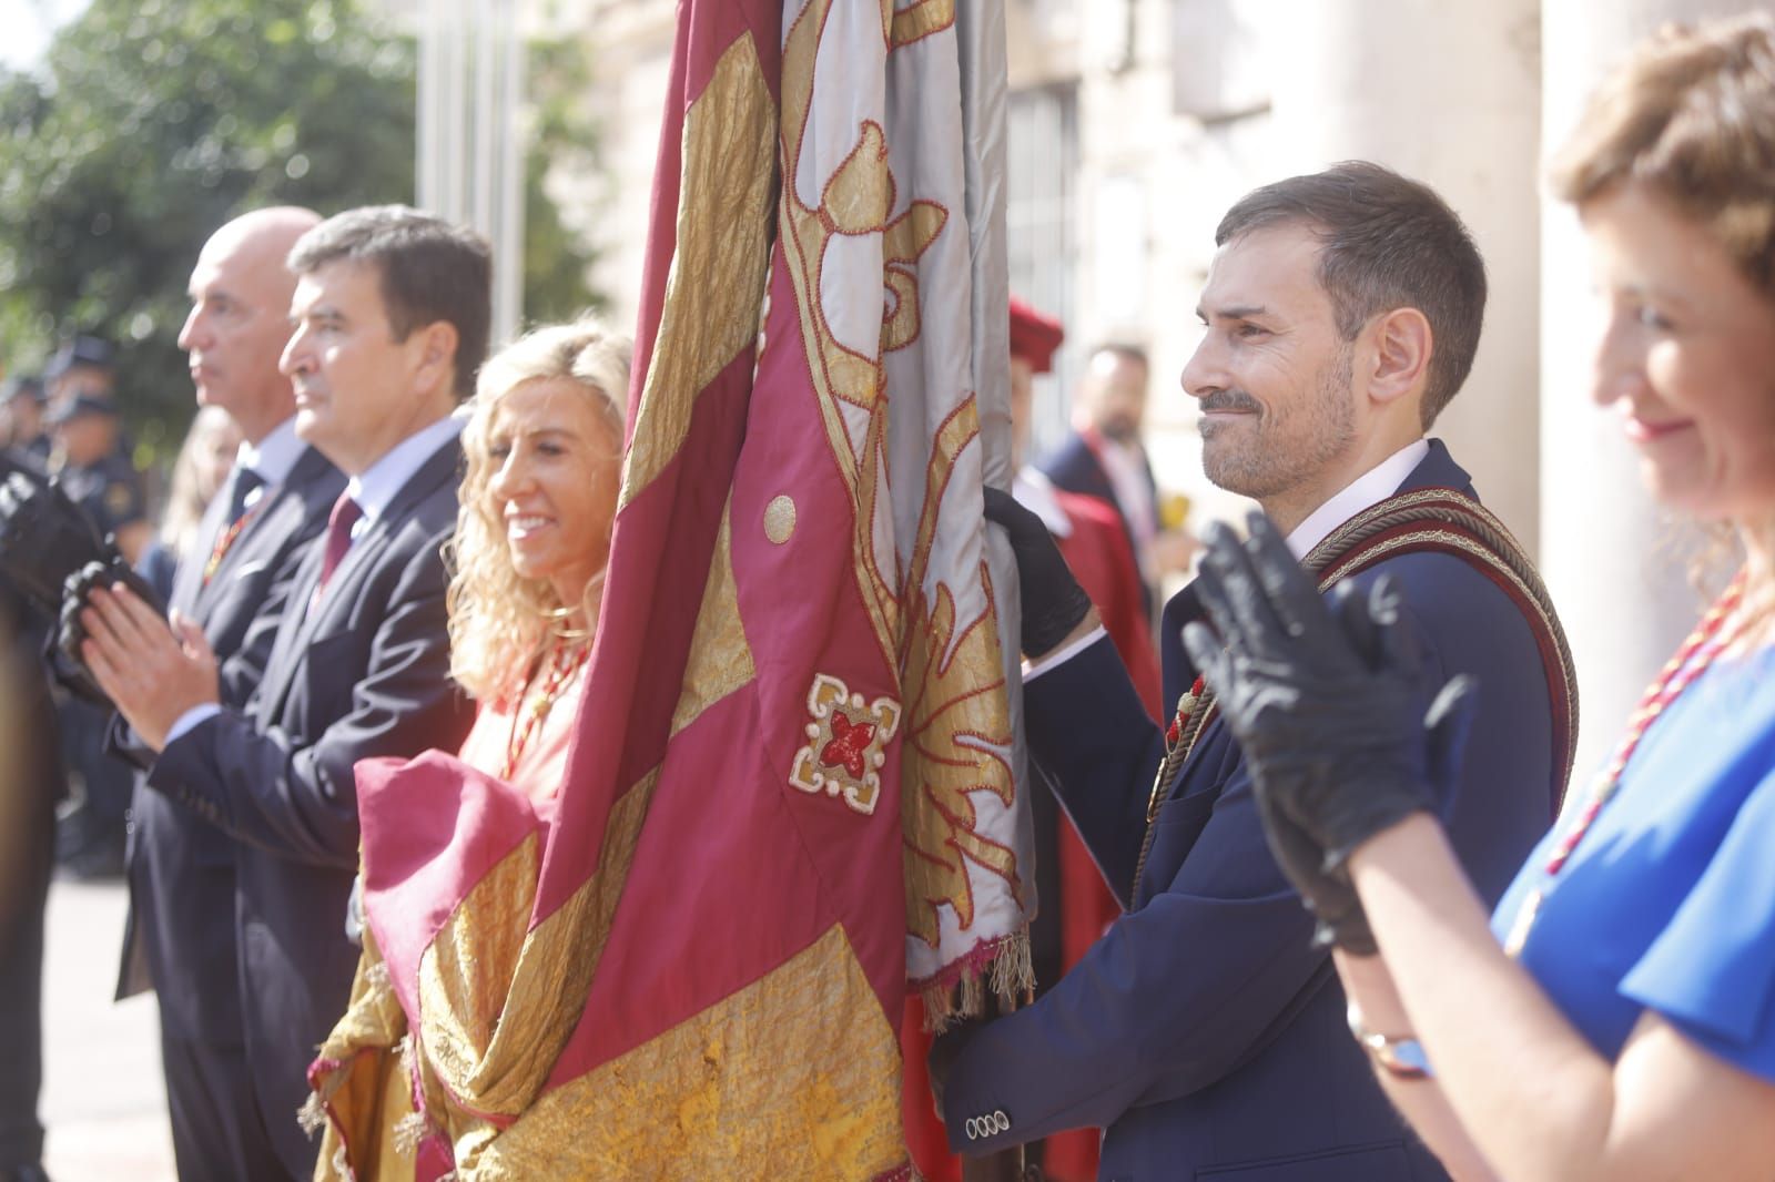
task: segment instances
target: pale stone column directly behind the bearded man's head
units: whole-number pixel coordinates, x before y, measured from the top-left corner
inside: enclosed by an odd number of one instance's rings
[[[1537,0],[1314,0],[1276,32],[1274,176],[1374,160],[1471,227],[1491,295],[1473,373],[1432,431],[1537,550]],[[1273,179],[1273,177],[1266,177]]]

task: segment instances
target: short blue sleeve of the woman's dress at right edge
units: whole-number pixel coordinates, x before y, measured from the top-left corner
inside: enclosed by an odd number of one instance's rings
[[[1621,981],[1711,1054],[1775,1081],[1775,768],[1768,761],[1670,923]]]

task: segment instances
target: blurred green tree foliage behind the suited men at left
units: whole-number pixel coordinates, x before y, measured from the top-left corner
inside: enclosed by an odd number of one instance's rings
[[[257,206],[412,201],[414,59],[357,0],[92,0],[41,71],[0,71],[0,360],[110,337],[126,419],[151,453],[174,447],[202,241]],[[591,302],[541,172],[532,316]]]

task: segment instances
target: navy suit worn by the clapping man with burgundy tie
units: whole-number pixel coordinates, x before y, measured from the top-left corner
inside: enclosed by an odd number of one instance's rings
[[[181,735],[147,776],[234,843],[247,1063],[296,1177],[312,1173],[318,1148],[296,1123],[307,1068],[344,1013],[359,957],[344,937],[359,847],[351,768],[454,751],[472,721],[449,678],[444,607],[460,461],[454,442],[426,460],[318,600],[325,547],[309,547],[247,706]]]

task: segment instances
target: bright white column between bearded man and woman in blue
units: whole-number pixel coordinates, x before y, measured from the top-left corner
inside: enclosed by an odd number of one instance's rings
[[[1596,82],[1670,20],[1743,11],[1734,0],[1544,0],[1542,135],[1557,149]],[[1684,552],[1695,531],[1645,492],[1613,414],[1590,403],[1594,303],[1574,213],[1550,202],[1541,236],[1541,571],[1578,662],[1580,795],[1645,683],[1699,614]]]

